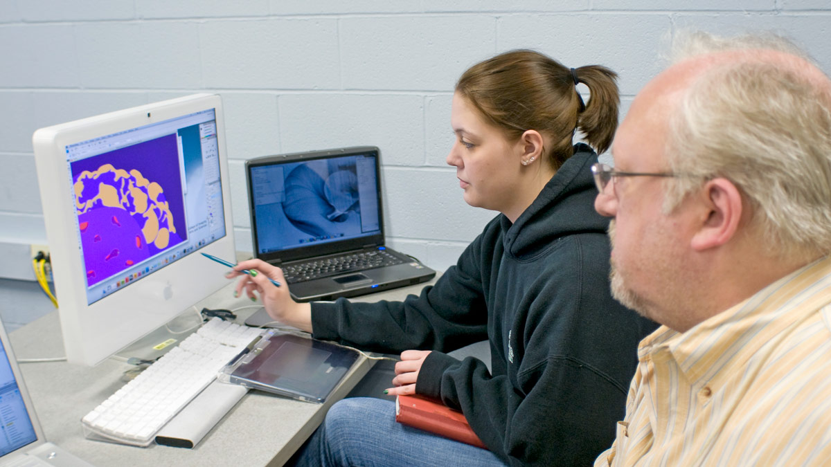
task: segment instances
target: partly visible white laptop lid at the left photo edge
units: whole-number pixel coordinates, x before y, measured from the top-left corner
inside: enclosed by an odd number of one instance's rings
[[[0,463],[46,443],[32,398],[0,322]]]

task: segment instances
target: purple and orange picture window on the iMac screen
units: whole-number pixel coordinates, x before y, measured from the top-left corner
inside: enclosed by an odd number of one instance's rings
[[[187,239],[175,134],[70,167],[87,287]]]

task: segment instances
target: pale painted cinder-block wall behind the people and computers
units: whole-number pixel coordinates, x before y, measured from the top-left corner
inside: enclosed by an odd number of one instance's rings
[[[686,27],[784,32],[831,71],[831,0],[5,0],[0,251],[43,242],[34,130],[216,91],[238,248],[251,247],[244,160],[378,145],[391,244],[444,269],[494,217],[445,165],[460,73],[517,47],[601,63],[621,75],[625,112]],[[6,255],[0,277],[26,276],[17,263]]]

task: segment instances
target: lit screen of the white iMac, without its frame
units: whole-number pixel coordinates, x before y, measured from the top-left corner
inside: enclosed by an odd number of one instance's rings
[[[215,113],[66,146],[87,303],[224,237]]]

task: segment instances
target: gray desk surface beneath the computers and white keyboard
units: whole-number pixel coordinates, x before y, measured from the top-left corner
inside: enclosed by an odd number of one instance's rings
[[[401,300],[418,293],[425,284],[379,292],[357,299]],[[196,306],[234,309],[251,305],[232,297],[232,285],[220,289]],[[237,312],[238,322],[257,308]],[[63,356],[57,312],[49,313],[11,333],[18,359]],[[326,404],[293,401],[260,391],[249,391],[234,409],[192,450],[161,445],[148,448],[87,440],[81,417],[125,383],[120,377],[130,368],[109,359],[95,367],[60,362],[23,363],[22,372],[32,394],[43,430],[57,445],[94,465],[283,465],[323,420],[329,406],[342,399],[369,371],[374,361],[361,357]]]

